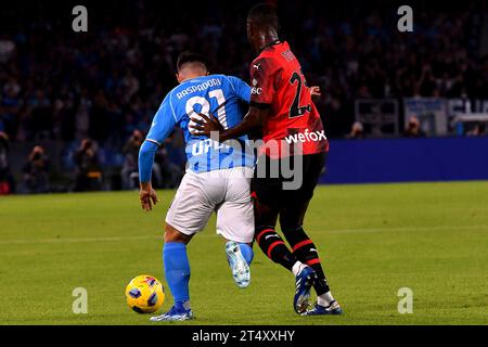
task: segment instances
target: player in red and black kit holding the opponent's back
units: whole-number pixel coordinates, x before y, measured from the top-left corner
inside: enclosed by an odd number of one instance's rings
[[[241,124],[223,130],[213,117],[194,119],[194,131],[219,131],[219,141],[235,139],[257,128],[265,144],[251,183],[254,196],[255,240],[274,262],[292,271],[296,279],[294,308],[304,316],[341,314],[334,300],[316,245],[305,232],[304,217],[319,176],[325,164],[329,143],[320,115],[311,100],[301,67],[285,41],[278,37],[278,16],[272,5],[254,7],[247,16],[247,37],[259,54],[251,65],[252,95],[249,112]],[[283,163],[301,175],[301,184],[285,189],[291,178]],[[279,172],[273,172],[278,168]],[[265,174],[265,175],[262,175]],[[278,218],[293,252],[275,232]],[[309,307],[310,288],[318,296]]]

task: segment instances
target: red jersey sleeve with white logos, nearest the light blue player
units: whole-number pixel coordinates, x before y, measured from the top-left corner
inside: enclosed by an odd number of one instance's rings
[[[251,104],[269,105],[273,101],[278,85],[279,68],[270,57],[260,57],[251,64]]]

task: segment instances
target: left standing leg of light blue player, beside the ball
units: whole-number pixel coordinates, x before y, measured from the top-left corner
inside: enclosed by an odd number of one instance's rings
[[[214,205],[201,190],[204,178],[187,174],[166,215],[163,262],[166,282],[175,298],[168,312],[153,317],[152,321],[179,321],[193,318],[190,307],[190,262],[187,244],[192,236],[203,230],[210,217]],[[198,181],[200,180],[200,181]]]

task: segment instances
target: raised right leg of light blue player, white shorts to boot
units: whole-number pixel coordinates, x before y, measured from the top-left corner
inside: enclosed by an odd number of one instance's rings
[[[253,169],[236,167],[222,172],[227,175],[227,184],[224,201],[217,208],[217,233],[227,240],[226,255],[235,283],[246,287],[254,258],[254,213],[249,194]]]

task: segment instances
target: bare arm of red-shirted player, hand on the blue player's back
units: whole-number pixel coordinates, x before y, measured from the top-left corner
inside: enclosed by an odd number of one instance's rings
[[[192,128],[192,133],[207,137],[210,137],[210,132],[216,131],[219,133],[219,140],[223,142],[230,139],[236,139],[262,127],[264,120],[268,116],[268,107],[261,108],[252,105],[244,119],[235,127],[227,130],[222,128],[214,115],[206,116],[204,114],[198,114],[201,118],[192,118],[195,125],[190,126],[190,128]]]

